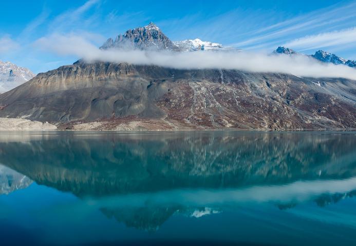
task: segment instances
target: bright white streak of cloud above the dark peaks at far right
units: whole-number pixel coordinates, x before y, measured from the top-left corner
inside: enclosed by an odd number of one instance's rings
[[[356,42],[356,27],[297,38],[286,43],[285,46],[293,49],[308,50],[336,45],[341,46],[354,42]]]

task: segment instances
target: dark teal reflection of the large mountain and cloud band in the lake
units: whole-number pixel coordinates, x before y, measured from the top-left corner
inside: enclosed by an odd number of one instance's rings
[[[127,227],[157,231],[173,215],[353,197],[355,148],[353,132],[6,133],[0,186],[9,190],[5,171],[25,175],[26,187],[69,192]]]

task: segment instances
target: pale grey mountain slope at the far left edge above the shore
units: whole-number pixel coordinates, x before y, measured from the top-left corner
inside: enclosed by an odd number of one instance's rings
[[[9,61],[0,60],[0,93],[9,91],[33,78],[29,69],[17,67]]]

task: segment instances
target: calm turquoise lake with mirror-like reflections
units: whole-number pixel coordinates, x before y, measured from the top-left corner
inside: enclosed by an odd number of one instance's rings
[[[355,245],[356,133],[0,133],[1,245]]]

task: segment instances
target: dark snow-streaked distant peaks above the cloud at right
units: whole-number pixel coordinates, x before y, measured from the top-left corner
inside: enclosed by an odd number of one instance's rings
[[[273,53],[275,54],[286,54],[286,55],[305,55],[302,53],[298,53],[292,49],[286,48],[286,47],[281,47],[279,46]],[[342,57],[339,57],[335,54],[331,54],[329,52],[325,52],[323,50],[318,50],[315,52],[313,55],[307,55],[309,57],[313,57],[322,63],[332,63],[335,65],[346,65],[351,68],[356,67],[356,60],[346,60]]]

